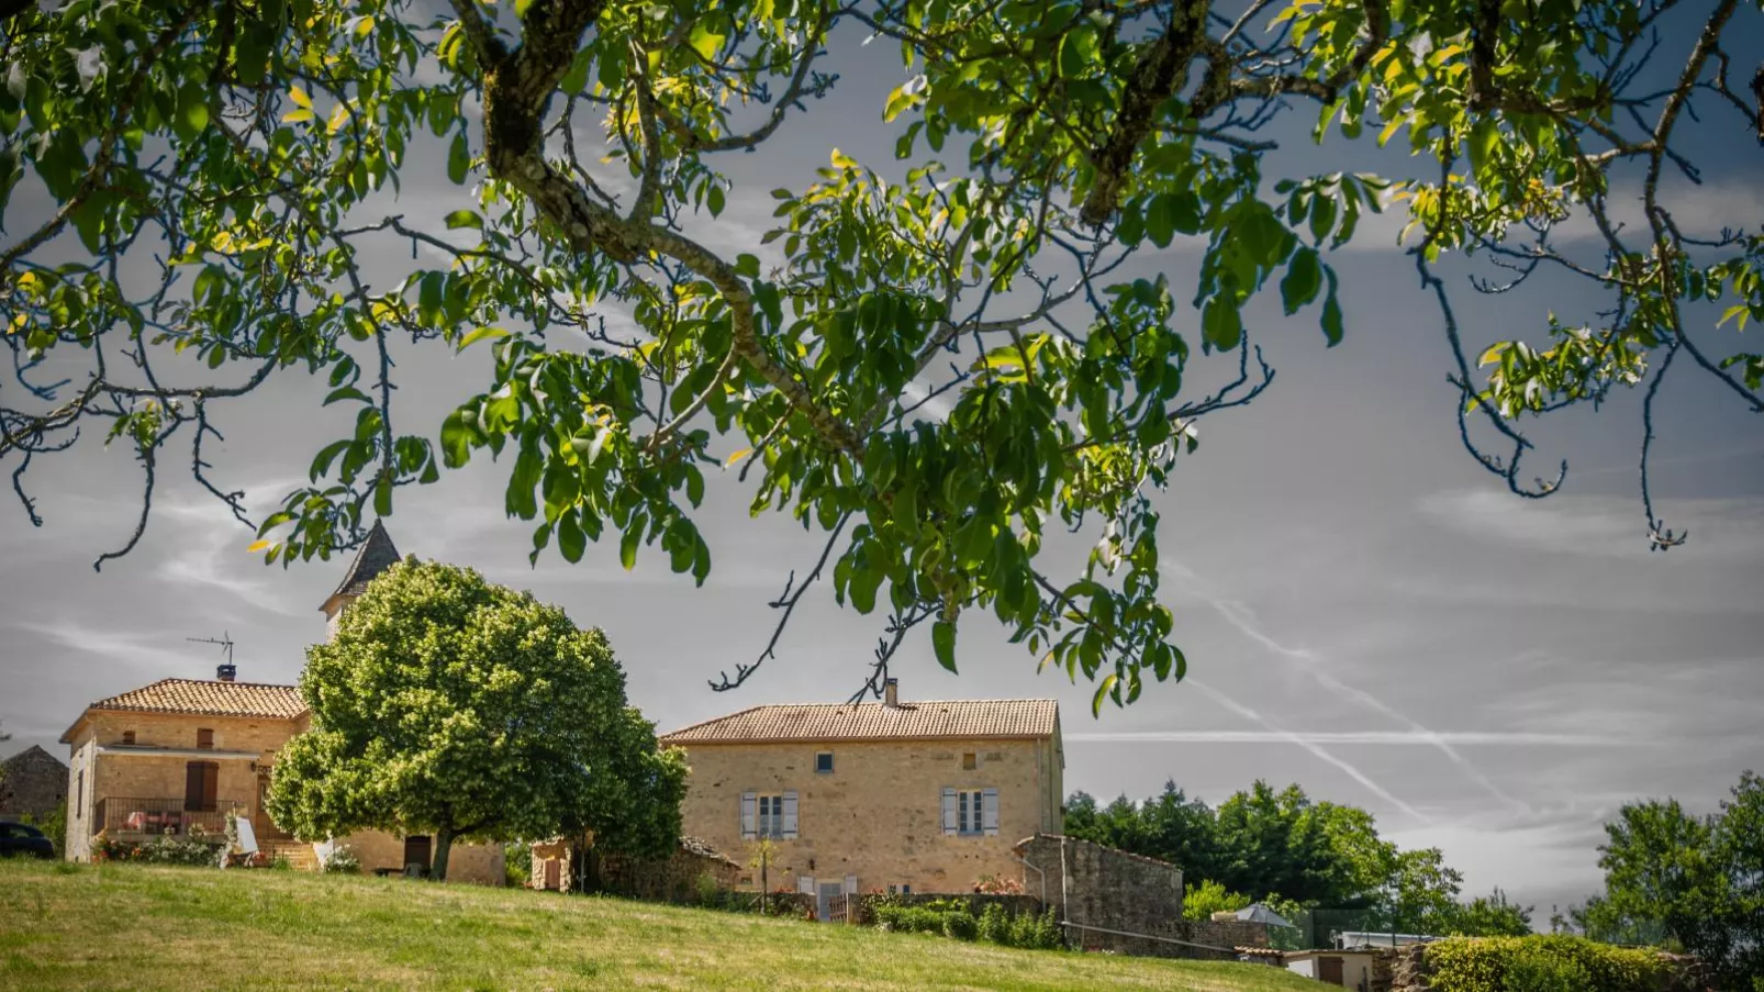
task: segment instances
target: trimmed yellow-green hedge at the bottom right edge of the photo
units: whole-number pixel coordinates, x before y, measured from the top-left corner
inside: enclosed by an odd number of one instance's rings
[[[1656,992],[1669,971],[1655,951],[1584,937],[1454,937],[1424,951],[1434,992]]]

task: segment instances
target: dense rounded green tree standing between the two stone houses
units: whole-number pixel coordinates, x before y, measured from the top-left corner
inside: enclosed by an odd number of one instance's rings
[[[296,837],[377,828],[453,840],[594,831],[660,854],[686,766],[624,701],[600,630],[482,575],[413,558],[307,651],[312,727],[277,754],[270,815]]]

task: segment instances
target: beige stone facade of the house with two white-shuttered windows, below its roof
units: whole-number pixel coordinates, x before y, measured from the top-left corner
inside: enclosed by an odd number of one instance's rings
[[[817,771],[817,755],[833,771]],[[972,755],[972,768],[965,768]],[[691,743],[691,777],[681,819],[686,833],[746,863],[757,847],[743,835],[741,796],[797,796],[794,838],[773,838],[773,888],[803,879],[841,881],[856,891],[910,886],[965,893],[986,877],[1018,877],[1016,838],[1060,828],[1058,738],[875,740],[831,743]],[[946,789],[997,789],[997,830],[944,831]],[[852,883],[852,879],[856,879]],[[1180,893],[1180,886],[1178,886]]]

